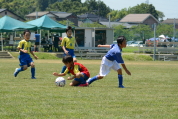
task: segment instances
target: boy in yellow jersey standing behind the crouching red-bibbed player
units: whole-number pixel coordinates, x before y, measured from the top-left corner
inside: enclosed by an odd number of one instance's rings
[[[73,62],[77,62],[74,54],[75,37],[72,36],[72,27],[68,26],[66,29],[67,36],[62,39],[61,47],[64,51],[64,56],[70,55],[73,58]],[[64,73],[66,66],[63,66],[61,73]]]

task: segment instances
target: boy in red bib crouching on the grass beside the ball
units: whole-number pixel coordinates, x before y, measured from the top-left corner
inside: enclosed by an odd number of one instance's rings
[[[74,62],[71,56],[65,56],[62,59],[62,62],[67,67],[64,73],[54,72],[54,76],[65,76],[68,72],[70,72],[73,77],[68,77],[68,80],[74,79],[70,86],[88,86],[86,80],[90,77],[90,73],[88,69],[80,63]]]

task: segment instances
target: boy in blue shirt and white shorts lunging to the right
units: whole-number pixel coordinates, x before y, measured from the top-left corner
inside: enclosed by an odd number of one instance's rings
[[[124,60],[122,59],[122,48],[126,47],[126,38],[124,36],[119,36],[117,38],[117,44],[112,45],[98,45],[98,47],[109,47],[111,48],[107,54],[102,58],[100,72],[99,75],[96,75],[93,78],[90,78],[87,82],[91,84],[92,82],[102,79],[106,76],[110,69],[117,71],[118,73],[118,81],[119,81],[119,88],[124,88],[123,86],[123,77],[122,77],[122,70],[119,64],[122,65],[123,69],[128,75],[131,75],[130,71],[126,68],[124,64]]]

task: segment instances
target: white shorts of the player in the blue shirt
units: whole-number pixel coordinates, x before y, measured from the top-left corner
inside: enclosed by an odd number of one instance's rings
[[[106,76],[110,72],[111,69],[117,71],[118,69],[121,69],[121,67],[120,67],[119,63],[117,63],[115,60],[110,61],[106,57],[103,57],[103,59],[101,61],[99,75]]]

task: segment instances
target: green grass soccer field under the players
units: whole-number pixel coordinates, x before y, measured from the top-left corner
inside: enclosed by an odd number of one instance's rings
[[[100,60],[79,60],[95,76]],[[126,61],[132,76],[124,72],[118,88],[111,71],[89,87],[56,87],[52,72],[61,60],[35,60],[36,77],[30,69],[13,77],[17,59],[0,59],[1,119],[177,119],[178,62]]]

